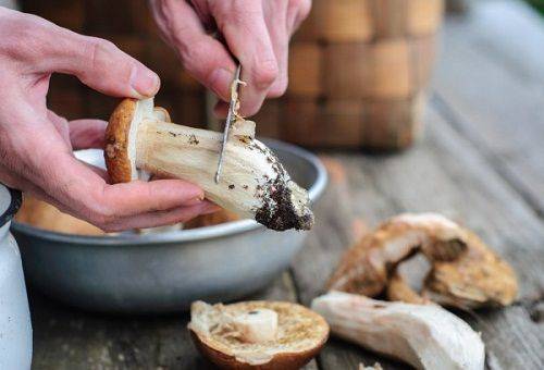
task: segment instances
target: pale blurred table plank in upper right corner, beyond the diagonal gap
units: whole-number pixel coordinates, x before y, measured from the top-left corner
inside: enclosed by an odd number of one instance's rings
[[[544,215],[544,22],[520,1],[477,1],[444,29],[442,109]]]

